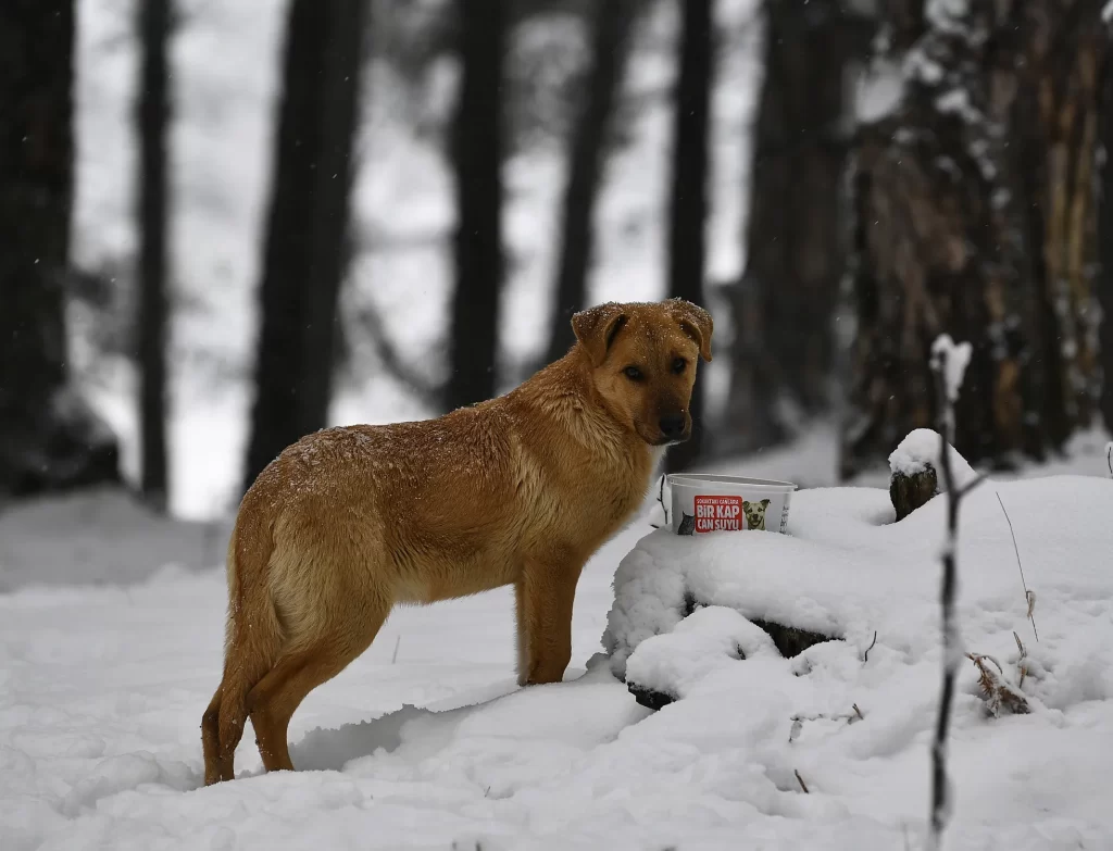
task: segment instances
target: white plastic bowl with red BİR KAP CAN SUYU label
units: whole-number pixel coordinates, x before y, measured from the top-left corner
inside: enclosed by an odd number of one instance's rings
[[[673,473],[669,526],[677,535],[765,530],[784,532],[796,485],[768,478]]]

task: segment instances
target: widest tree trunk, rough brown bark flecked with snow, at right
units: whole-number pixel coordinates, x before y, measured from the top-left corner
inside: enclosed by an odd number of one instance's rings
[[[858,308],[840,471],[934,422],[928,349],[969,340],[956,446],[1013,463],[1089,416],[1094,328],[1096,0],[894,3],[894,112],[863,128],[853,170]],[[906,61],[914,59],[915,61]]]

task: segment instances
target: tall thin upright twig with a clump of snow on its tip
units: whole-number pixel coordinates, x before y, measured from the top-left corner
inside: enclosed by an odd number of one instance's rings
[[[932,372],[935,374],[939,406],[939,466],[943,485],[947,492],[947,543],[943,548],[943,585],[940,607],[943,608],[943,685],[939,693],[939,714],[936,719],[935,739],[932,742],[932,813],[927,837],[927,848],[939,848],[943,829],[948,815],[947,801],[947,732],[951,728],[951,704],[955,696],[955,676],[962,659],[958,625],[955,620],[955,591],[957,585],[958,550],[958,504],[963,491],[955,487],[954,471],[951,467],[951,444],[955,433],[955,400],[963,384],[963,375],[969,363],[971,344],[955,345],[946,334],[939,335],[932,344]]]

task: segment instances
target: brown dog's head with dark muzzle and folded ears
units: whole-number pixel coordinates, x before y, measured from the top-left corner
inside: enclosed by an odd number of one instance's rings
[[[611,413],[652,446],[691,436],[699,358],[711,359],[711,315],[679,298],[608,303],[572,317],[592,380]]]

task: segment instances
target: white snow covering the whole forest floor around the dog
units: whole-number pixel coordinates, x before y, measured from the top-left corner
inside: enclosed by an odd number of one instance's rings
[[[1113,482],[1092,472],[968,497],[966,646],[1015,685],[1016,631],[1033,713],[987,719],[964,669],[948,848],[1113,847]],[[1037,594],[1038,642],[995,491]],[[920,847],[938,501],[886,525],[884,491],[806,491],[788,536],[677,538],[653,533],[647,512],[584,572],[563,684],[516,689],[508,592],[400,610],[295,714],[302,771],[260,774],[248,734],[239,779],[209,789],[198,725],[220,669],[225,585],[221,568],[197,567],[226,530],[171,534],[105,494],[21,511],[0,525],[13,588],[0,595],[6,851]],[[86,573],[114,552],[131,567]],[[658,713],[599,655],[623,558],[608,641],[681,697]],[[717,605],[670,633],[686,590]],[[846,641],[785,661],[742,614]],[[850,723],[855,704],[863,718]]]

